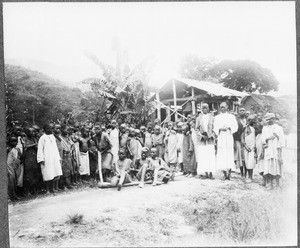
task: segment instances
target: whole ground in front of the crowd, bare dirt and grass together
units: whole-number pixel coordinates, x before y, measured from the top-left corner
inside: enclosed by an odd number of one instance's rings
[[[12,247],[295,245],[295,178],[286,177],[283,179],[283,189],[273,191],[260,186],[260,182],[258,175],[252,183],[241,180],[238,174],[233,174],[231,181],[178,176],[174,182],[156,187],[146,185],[140,189],[132,186],[121,191],[115,188],[86,188],[9,204],[10,242]],[[273,244],[261,235],[251,238],[253,233],[249,225],[257,225],[251,217],[253,213],[249,214],[249,222],[244,217],[247,213],[237,210],[242,215],[236,215],[231,204],[233,202],[239,207],[238,204],[245,206],[261,201],[265,202],[263,204],[270,202],[270,206],[275,204],[275,208],[267,207],[273,211],[271,219],[266,221],[268,224],[263,224],[267,227],[260,231],[255,226],[253,230],[281,237],[275,240],[270,236]],[[224,206],[233,209],[233,212],[228,212],[228,216],[233,213],[229,218],[221,215],[227,213]],[[256,205],[253,209],[254,214],[265,211]],[[76,214],[81,215],[82,220],[79,218],[78,223],[70,223],[72,216],[76,220]],[[268,214],[258,215],[254,219],[263,221],[260,216]],[[243,219],[235,216],[242,216]],[[272,224],[272,216],[280,223],[278,228],[277,224]],[[223,223],[227,223],[226,219],[231,222],[234,219],[233,226],[239,226],[240,230],[224,236],[226,230],[232,229],[222,227]],[[270,231],[270,226],[277,229]]]

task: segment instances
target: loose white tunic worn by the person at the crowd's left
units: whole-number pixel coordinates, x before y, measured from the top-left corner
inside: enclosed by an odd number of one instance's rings
[[[53,134],[43,134],[38,142],[37,161],[44,161],[41,166],[43,180],[50,181],[62,175],[59,151]]]

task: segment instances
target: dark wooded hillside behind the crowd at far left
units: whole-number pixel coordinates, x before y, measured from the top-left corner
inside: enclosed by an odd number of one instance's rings
[[[43,125],[80,108],[82,92],[22,66],[5,65],[6,120]]]

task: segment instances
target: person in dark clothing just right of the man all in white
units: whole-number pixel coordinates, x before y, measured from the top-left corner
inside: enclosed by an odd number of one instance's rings
[[[245,115],[245,109],[240,108],[238,116],[236,117],[236,121],[238,123],[238,130],[236,133],[233,134],[234,139],[234,163],[236,166],[236,169],[240,169],[241,176],[245,177],[247,176],[247,170],[245,166],[245,154],[244,149],[242,147],[242,134],[244,132],[244,129],[246,127],[247,119]]]

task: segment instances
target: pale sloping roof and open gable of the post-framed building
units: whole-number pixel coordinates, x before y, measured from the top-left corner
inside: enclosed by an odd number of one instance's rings
[[[235,96],[235,97],[244,97],[248,94],[245,92],[240,92],[232,90],[226,87],[223,87],[220,84],[208,82],[208,81],[198,81],[188,78],[172,78],[167,81],[159,89],[160,100],[173,99],[173,81],[176,86],[176,97],[177,98],[186,98],[189,95],[189,88],[193,87],[195,96],[209,94],[213,96]],[[153,100],[154,96],[150,98]]]

